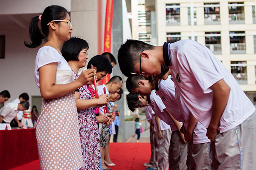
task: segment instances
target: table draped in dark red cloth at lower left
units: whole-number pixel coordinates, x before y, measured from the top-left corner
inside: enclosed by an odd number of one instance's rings
[[[0,130],[0,170],[39,159],[35,128]]]

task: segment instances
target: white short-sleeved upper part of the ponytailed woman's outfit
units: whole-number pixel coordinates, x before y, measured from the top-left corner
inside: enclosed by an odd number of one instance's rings
[[[57,62],[57,71],[59,70],[68,70],[71,71],[70,66],[68,65],[67,61],[61,54],[58,53],[55,48],[50,46],[44,46],[38,50],[35,58],[35,82],[38,87],[39,85],[39,71],[38,69],[44,65],[47,65],[52,62]]]

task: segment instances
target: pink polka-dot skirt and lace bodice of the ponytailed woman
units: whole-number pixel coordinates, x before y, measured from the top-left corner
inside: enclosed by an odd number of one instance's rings
[[[73,82],[73,77],[72,71],[57,71],[56,84]],[[43,99],[36,139],[41,170],[78,170],[83,166],[73,93]]]

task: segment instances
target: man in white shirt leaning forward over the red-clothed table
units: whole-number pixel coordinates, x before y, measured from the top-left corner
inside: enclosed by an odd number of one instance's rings
[[[20,103],[7,103],[0,109],[0,123],[10,123],[15,118],[18,126],[21,127],[21,123],[17,119],[17,113],[29,108],[29,102],[22,101]]]

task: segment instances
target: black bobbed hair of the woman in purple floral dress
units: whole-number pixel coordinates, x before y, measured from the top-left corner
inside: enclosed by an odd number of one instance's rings
[[[61,54],[67,61],[78,61],[78,55],[83,49],[89,49],[88,42],[78,37],[71,37],[63,43]]]

